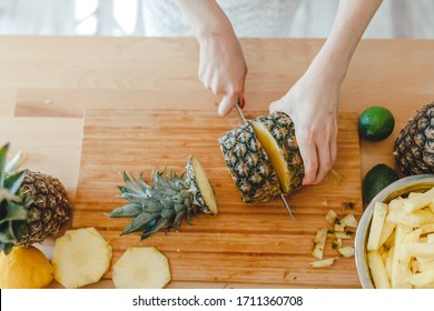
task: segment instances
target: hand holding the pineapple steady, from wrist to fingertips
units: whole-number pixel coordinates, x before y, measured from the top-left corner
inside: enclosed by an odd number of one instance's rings
[[[324,72],[322,72],[324,73]],[[286,112],[305,167],[304,185],[317,184],[336,160],[337,102],[341,79],[307,71],[269,110]]]

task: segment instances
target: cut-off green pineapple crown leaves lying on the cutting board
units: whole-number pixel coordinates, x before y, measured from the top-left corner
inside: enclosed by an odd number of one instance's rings
[[[124,172],[126,187],[118,185],[118,197],[129,201],[128,204],[117,208],[106,215],[111,218],[130,218],[121,235],[142,231],[141,239],[165,229],[178,230],[185,219],[190,223],[196,214],[193,193],[186,182],[185,171],[180,175],[175,170],[151,173],[152,184],[148,184],[140,173],[139,179]]]

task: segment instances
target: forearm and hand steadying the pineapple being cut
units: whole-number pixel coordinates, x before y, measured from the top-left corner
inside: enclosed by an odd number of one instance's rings
[[[353,53],[382,0],[341,0],[331,33],[303,77],[270,111],[288,113],[305,164],[303,184],[319,183],[336,160],[337,104]]]

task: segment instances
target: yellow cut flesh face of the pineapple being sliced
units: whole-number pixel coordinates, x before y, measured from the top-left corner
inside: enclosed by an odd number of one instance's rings
[[[277,141],[274,139],[272,133],[264,127],[263,123],[251,121],[251,127],[254,128],[256,137],[263,144],[265,152],[267,153],[269,161],[272,162],[272,165],[276,171],[282,190],[285,193],[289,192],[290,179],[288,177],[290,175],[290,173],[288,170],[288,163],[286,162],[285,157],[282,152],[282,148],[278,146]]]

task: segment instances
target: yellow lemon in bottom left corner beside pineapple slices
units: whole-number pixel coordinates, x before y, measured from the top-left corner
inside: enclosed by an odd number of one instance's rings
[[[34,247],[14,247],[0,253],[1,289],[41,289],[53,279],[53,269],[46,255]]]

